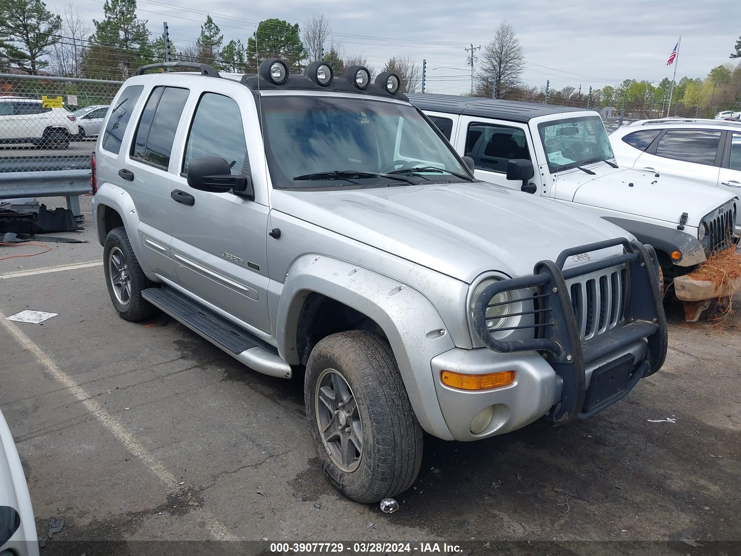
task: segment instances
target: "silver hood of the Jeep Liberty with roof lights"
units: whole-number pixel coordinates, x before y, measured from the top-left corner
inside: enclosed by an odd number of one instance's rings
[[[614,237],[633,239],[597,216],[486,182],[275,190],[271,202],[273,210],[465,282],[484,271],[525,276],[536,262],[554,261],[566,248]],[[622,248],[605,249],[592,258],[617,252]]]

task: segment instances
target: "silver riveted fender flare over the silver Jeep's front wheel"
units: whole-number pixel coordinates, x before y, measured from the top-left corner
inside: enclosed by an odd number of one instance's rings
[[[440,411],[430,362],[455,345],[429,299],[398,280],[349,262],[316,254],[299,257],[288,271],[276,320],[278,351],[288,363],[299,362],[296,328],[304,300],[314,292],[348,305],[382,328],[419,424],[436,437],[453,440]]]

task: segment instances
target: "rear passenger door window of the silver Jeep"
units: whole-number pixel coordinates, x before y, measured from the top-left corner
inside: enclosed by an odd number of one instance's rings
[[[131,145],[133,159],[167,170],[189,92],[179,87],[154,88],[136,128]]]

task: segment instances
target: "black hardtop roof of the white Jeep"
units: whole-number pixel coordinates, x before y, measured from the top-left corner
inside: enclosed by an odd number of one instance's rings
[[[421,110],[465,114],[482,118],[505,119],[510,122],[528,123],[537,116],[549,116],[563,112],[586,112],[583,108],[569,106],[540,105],[534,102],[481,99],[473,96],[437,95],[431,93],[407,93],[409,101]]]

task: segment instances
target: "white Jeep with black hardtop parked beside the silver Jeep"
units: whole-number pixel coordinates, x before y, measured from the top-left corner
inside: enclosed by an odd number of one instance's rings
[[[695,279],[711,254],[738,242],[739,197],[621,168],[599,113],[564,106],[409,94],[477,178],[601,216],[656,248],[665,286],[697,320],[711,299],[741,291],[735,280]],[[544,238],[545,239],[545,238]]]

